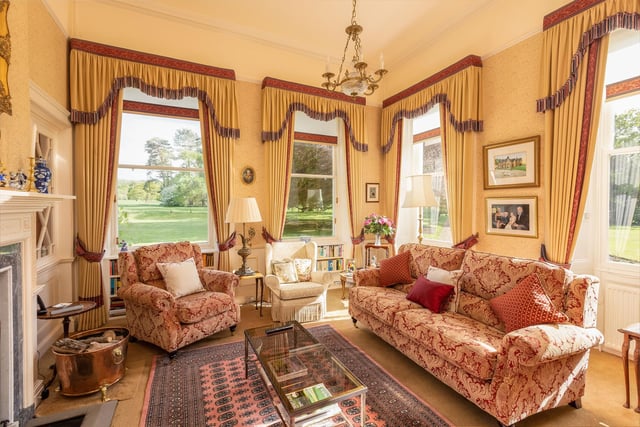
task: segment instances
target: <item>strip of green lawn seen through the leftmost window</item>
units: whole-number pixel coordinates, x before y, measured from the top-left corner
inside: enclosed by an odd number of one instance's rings
[[[169,207],[158,201],[122,200],[119,238],[129,245],[159,242],[207,241],[207,207]]]

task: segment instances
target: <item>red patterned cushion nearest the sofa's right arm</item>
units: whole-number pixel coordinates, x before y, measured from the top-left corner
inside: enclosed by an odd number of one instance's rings
[[[525,277],[506,294],[489,300],[489,304],[504,322],[507,332],[541,323],[569,321],[566,314],[555,308],[537,274]]]

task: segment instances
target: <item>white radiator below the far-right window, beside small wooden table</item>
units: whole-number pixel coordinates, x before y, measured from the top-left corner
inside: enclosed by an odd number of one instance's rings
[[[604,289],[604,303],[604,347],[620,354],[623,335],[618,329],[640,322],[640,289],[608,284]]]

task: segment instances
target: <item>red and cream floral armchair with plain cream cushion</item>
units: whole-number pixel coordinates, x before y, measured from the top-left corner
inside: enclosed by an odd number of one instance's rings
[[[120,252],[118,268],[132,337],[174,356],[179,348],[240,322],[238,276],[204,268],[200,247],[160,243]]]

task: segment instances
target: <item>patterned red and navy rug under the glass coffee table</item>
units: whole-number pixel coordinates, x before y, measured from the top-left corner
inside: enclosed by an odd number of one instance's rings
[[[366,426],[442,426],[450,423],[400,385],[380,365],[329,325],[309,328],[367,387]],[[244,341],[155,356],[140,426],[282,426],[255,362],[244,375]],[[360,425],[360,402],[341,405]]]

